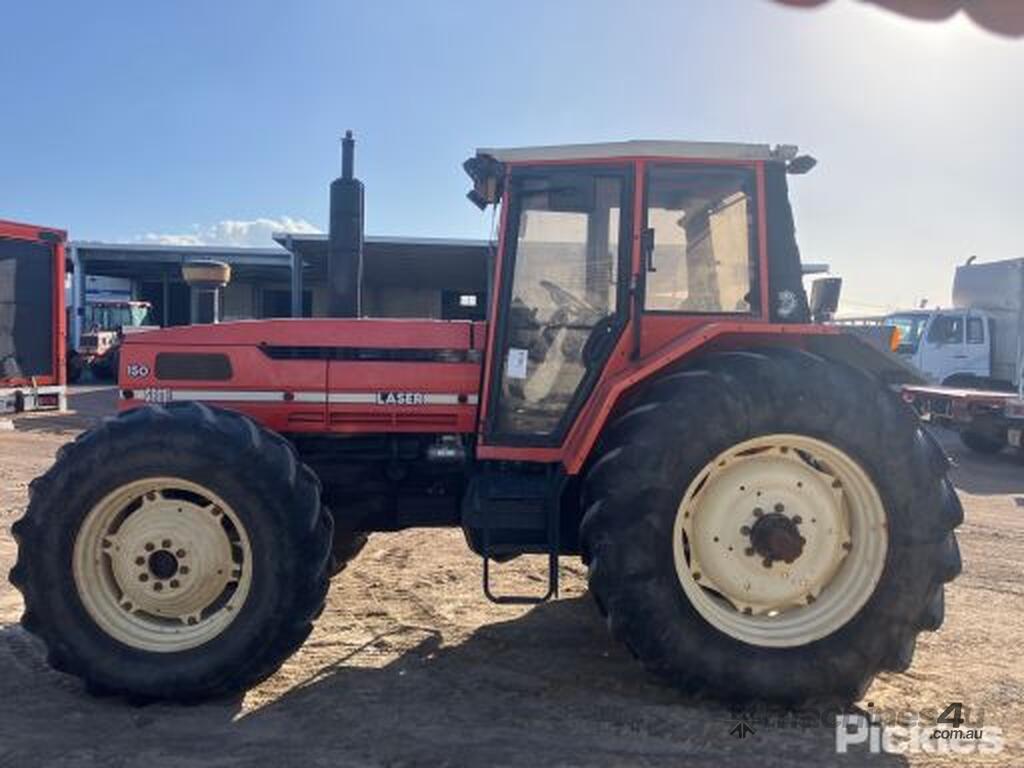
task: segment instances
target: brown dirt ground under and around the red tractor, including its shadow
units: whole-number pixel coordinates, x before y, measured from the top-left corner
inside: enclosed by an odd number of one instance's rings
[[[72,407],[0,430],[0,573],[14,562],[10,525],[29,481],[112,409],[113,392],[78,388]],[[649,680],[609,640],[579,562],[563,560],[560,599],[499,607],[461,534],[425,530],[374,537],[280,673],[202,706],[88,696],[46,667],[17,624],[20,595],[0,580],[0,766],[1024,766],[1024,463],[940,438],[967,512],[964,575],[909,672],[880,677],[860,707],[889,723],[961,701],[964,727],[1001,729],[999,754],[837,755],[834,719],[765,710],[746,714],[754,733],[737,738],[736,713]],[[540,587],[543,566],[502,572],[507,586]]]

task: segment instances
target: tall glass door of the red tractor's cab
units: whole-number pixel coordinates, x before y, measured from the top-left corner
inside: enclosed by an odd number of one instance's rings
[[[558,445],[628,317],[633,166],[513,168],[486,441]]]

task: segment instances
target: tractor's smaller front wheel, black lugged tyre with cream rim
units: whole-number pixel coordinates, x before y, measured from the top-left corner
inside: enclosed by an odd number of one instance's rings
[[[305,640],[332,541],[292,446],[201,403],[122,414],[63,446],[13,526],[23,626],[90,690],[248,688]]]

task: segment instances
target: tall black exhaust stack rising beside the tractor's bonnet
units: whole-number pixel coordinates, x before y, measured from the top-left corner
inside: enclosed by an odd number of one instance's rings
[[[332,317],[358,317],[362,290],[362,182],[355,178],[355,139],[341,140],[341,176],[331,182],[327,274]]]

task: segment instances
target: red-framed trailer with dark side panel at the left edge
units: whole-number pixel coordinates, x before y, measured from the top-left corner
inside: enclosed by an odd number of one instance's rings
[[[66,241],[0,219],[0,414],[65,408]]]

